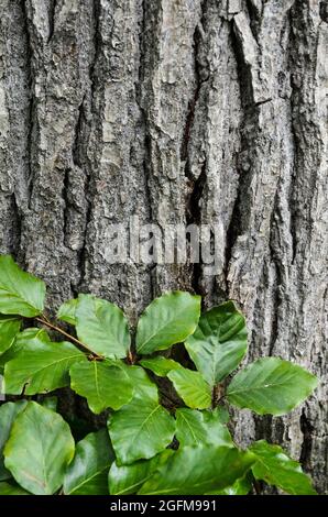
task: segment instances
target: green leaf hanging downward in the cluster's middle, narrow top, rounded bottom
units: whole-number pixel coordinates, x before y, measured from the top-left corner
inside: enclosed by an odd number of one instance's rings
[[[130,375],[135,380],[134,396],[108,421],[118,464],[154,457],[172,442],[175,432],[175,420],[158,404],[157,388],[145,372],[133,369]]]

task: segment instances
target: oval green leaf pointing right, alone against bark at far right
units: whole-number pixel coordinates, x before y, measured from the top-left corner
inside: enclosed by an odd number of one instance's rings
[[[284,415],[316,386],[317,378],[300,366],[278,358],[262,358],[236,375],[227,395],[234,406],[259,415]]]

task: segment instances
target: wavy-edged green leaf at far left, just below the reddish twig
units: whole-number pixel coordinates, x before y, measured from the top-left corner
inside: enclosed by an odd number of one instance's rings
[[[4,392],[20,395],[47,393],[69,385],[69,367],[87,361],[72,343],[51,342],[46,334],[21,341],[15,359],[4,366]]]

